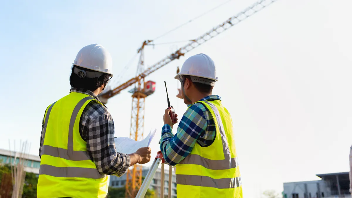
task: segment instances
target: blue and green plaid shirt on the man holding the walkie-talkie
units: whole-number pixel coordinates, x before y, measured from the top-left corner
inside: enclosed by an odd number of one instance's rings
[[[221,100],[218,95],[209,95],[200,101]],[[175,166],[191,153],[195,143],[210,146],[215,139],[215,122],[209,110],[201,103],[191,105],[183,114],[177,127],[176,135],[172,135],[171,126],[165,124],[161,133],[160,150],[168,165]]]

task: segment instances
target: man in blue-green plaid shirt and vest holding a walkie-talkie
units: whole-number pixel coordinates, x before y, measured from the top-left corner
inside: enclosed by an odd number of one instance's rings
[[[220,96],[212,94],[218,81],[214,61],[205,54],[191,56],[175,79],[188,109],[175,136],[165,110],[160,149],[165,162],[176,167],[177,197],[243,197],[232,119]]]

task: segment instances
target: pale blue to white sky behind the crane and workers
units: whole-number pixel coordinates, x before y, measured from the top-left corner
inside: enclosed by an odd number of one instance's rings
[[[0,102],[0,148],[8,149],[9,140],[16,140],[17,146],[27,140],[30,153],[38,154],[44,111],[69,93],[71,64],[82,47],[100,43],[109,50],[111,86],[117,86],[135,75],[137,49],[144,40],[223,2],[2,2],[5,96]],[[253,2],[229,1],[154,43],[195,39]],[[168,83],[171,105],[182,115],[186,105],[176,98],[176,68],[189,56],[205,53],[217,69],[213,93],[222,97],[234,122],[244,197],[259,198],[270,189],[282,192],[283,182],[318,180],[315,174],[349,171],[351,6],[348,0],[278,0],[147,76],[156,82],[156,92],[145,101],[144,119],[145,132],[157,129],[152,155],[159,150],[167,107],[163,81]],[[185,44],[146,46],[145,67]],[[132,98],[127,91],[107,103],[116,137],[130,133]]]

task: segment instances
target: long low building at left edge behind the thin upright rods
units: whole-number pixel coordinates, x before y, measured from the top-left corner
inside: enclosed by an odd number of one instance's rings
[[[20,161],[20,153],[16,151],[0,149],[0,163],[10,163],[11,162],[16,164]],[[39,167],[40,167],[40,157],[39,155],[28,155],[26,161],[24,162],[25,171],[29,173],[35,173],[39,175]]]

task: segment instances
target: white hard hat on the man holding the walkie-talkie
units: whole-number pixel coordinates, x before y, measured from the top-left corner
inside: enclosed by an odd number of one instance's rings
[[[210,79],[213,83],[214,81],[218,81],[214,61],[206,54],[197,54],[187,58],[187,60],[184,61],[182,65],[180,73],[175,76],[175,79],[179,80],[181,75],[189,75]],[[194,82],[198,81],[202,83],[202,80],[200,80],[199,78],[191,79]]]

